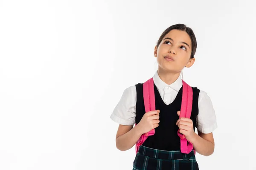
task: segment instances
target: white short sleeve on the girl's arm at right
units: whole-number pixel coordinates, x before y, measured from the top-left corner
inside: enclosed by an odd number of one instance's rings
[[[202,133],[212,133],[217,128],[215,110],[212,101],[205,91],[198,97],[197,129]]]

